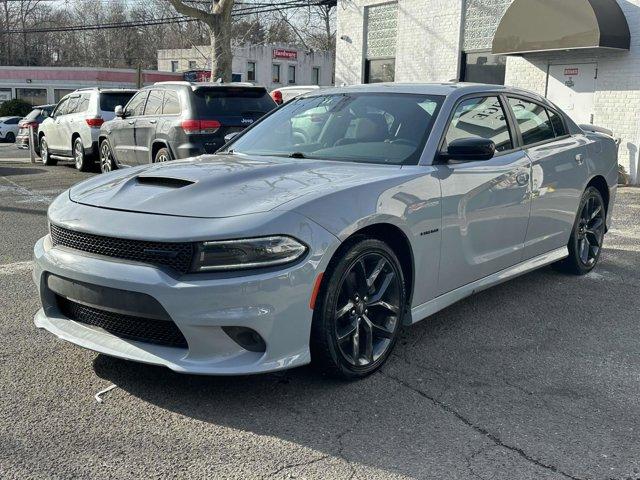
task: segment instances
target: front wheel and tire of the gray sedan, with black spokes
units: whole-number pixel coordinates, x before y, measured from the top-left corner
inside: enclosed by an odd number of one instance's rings
[[[375,372],[398,339],[405,298],[402,267],[386,243],[358,237],[345,245],[329,264],[317,297],[312,365],[344,379]]]

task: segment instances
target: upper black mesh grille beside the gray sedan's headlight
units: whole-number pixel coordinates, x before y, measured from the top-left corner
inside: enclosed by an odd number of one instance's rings
[[[103,237],[76,232],[53,224],[51,224],[51,240],[53,245],[62,245],[107,257],[169,267],[179,273],[189,271],[195,251],[193,243],[188,242],[147,242]]]

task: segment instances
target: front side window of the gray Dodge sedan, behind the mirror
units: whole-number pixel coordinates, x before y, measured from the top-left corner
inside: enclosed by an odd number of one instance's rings
[[[507,118],[498,97],[462,101],[451,119],[445,138],[445,150],[454,140],[478,137],[493,140],[499,152],[513,148]]]

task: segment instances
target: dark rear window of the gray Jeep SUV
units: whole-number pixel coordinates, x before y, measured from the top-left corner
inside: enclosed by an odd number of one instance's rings
[[[262,116],[277,107],[264,88],[198,88],[194,96],[196,112],[200,117]]]

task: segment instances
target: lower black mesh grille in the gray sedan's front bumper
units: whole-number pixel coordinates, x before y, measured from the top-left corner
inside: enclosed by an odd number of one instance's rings
[[[88,307],[56,295],[58,308],[67,318],[99,327],[119,338],[139,342],[187,348],[187,341],[171,320],[152,320]]]

